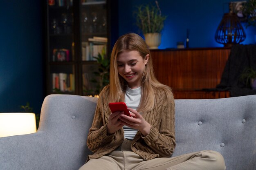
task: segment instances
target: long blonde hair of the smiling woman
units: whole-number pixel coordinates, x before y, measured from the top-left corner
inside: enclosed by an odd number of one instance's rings
[[[142,93],[137,111],[143,113],[153,110],[157,103],[156,91],[159,88],[165,91],[168,98],[171,97],[171,88],[161,84],[155,78],[153,63],[146,42],[138,34],[128,33],[119,37],[111,53],[108,102],[124,102],[127,82],[119,75],[117,70],[117,57],[124,51],[137,51],[143,59],[145,59],[146,55],[149,55],[148,63],[141,78]]]

